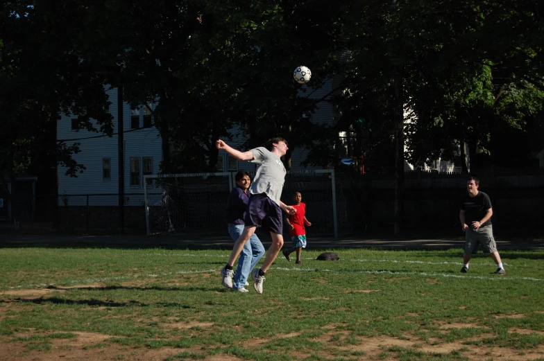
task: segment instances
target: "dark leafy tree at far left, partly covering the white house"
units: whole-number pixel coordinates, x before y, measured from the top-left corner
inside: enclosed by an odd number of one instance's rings
[[[104,111],[108,100],[103,85],[74,53],[71,39],[77,35],[77,12],[51,16],[44,5],[9,1],[0,6],[0,182],[15,208],[16,221],[17,200],[8,192],[3,175],[12,182],[17,173],[43,172],[44,180],[54,179],[51,169],[57,161],[72,176],[84,169],[71,159],[77,144],[56,143],[61,111],[76,114],[82,129],[112,132],[111,117]],[[99,130],[90,118],[98,121]],[[56,190],[56,184],[51,188]]]

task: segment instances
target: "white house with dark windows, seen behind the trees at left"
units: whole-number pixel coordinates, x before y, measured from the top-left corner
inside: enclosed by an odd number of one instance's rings
[[[106,91],[109,96],[114,133],[117,134],[117,89]],[[154,105],[151,104],[151,109]],[[157,174],[162,159],[162,141],[158,130],[151,126],[151,112],[146,107],[130,109],[124,104],[124,175],[125,193],[144,193],[146,174]],[[95,124],[96,125],[96,124]],[[96,127],[99,127],[96,125]],[[138,129],[142,128],[142,129]],[[133,130],[133,131],[131,131]],[[80,143],[74,159],[87,169],[78,177],[65,175],[66,169],[58,167],[58,193],[75,194],[115,194],[119,193],[119,153],[118,138],[103,136],[99,133],[78,130],[76,116],[62,116],[58,121],[57,139],[71,146]],[[151,189],[151,186],[148,185]],[[93,197],[96,200],[96,197]],[[99,201],[96,201],[99,202]]]

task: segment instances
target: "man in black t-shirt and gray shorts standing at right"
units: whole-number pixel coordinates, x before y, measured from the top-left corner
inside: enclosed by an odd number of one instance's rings
[[[468,271],[468,263],[473,253],[477,252],[478,245],[482,246],[485,253],[491,254],[491,258],[497,264],[497,270],[494,274],[506,274],[502,261],[500,261],[499,252],[495,238],[493,238],[493,227],[491,227],[491,200],[484,192],[478,191],[479,179],[470,177],[466,181],[468,193],[463,197],[461,211],[459,211],[459,220],[465,231],[465,252],[463,254],[463,267],[461,272]]]

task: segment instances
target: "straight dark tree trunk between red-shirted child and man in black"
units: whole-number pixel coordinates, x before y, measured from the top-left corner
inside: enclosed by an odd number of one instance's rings
[[[405,131],[404,104],[402,103],[402,77],[397,74],[393,80],[395,96],[395,236],[400,236],[404,223],[404,187],[405,187]]]

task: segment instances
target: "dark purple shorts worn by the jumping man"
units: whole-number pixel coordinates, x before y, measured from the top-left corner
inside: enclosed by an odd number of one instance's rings
[[[262,227],[273,234],[282,234],[282,210],[266,193],[249,196],[248,211],[246,213],[246,227]]]

